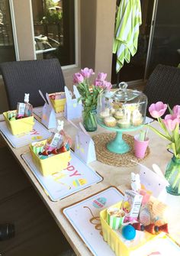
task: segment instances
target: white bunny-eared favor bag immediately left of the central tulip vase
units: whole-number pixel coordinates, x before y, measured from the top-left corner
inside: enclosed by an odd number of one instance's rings
[[[65,86],[64,87],[65,94],[66,94],[66,105],[64,110],[64,116],[71,120],[73,118],[81,118],[82,117],[82,101],[78,101],[80,98],[79,91],[76,86],[73,86],[74,95],[76,96],[75,99],[72,99],[72,93],[69,89]]]

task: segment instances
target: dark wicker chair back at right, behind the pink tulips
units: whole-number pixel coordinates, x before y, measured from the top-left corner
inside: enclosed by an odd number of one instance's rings
[[[149,76],[143,92],[148,98],[148,107],[159,101],[168,103],[171,108],[180,105],[180,69],[159,64]]]

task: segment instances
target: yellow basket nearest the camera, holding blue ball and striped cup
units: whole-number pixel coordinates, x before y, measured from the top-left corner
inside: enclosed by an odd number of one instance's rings
[[[117,203],[111,207],[121,209],[121,204],[122,202]],[[150,251],[152,248],[151,242],[155,241],[155,239],[159,237],[164,237],[164,233],[159,233],[159,235],[152,235],[148,232],[141,232],[140,235],[144,235],[143,239],[141,238],[138,243],[135,242],[134,245],[129,246],[130,241],[127,241],[127,243],[125,243],[123,239],[121,240],[118,232],[110,228],[110,226],[108,225],[107,209],[103,209],[100,212],[100,219],[104,241],[108,242],[108,245],[110,245],[116,256],[137,256],[146,253],[148,254],[148,251]]]

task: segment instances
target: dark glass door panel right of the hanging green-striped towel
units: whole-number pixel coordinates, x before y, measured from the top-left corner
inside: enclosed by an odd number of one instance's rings
[[[180,1],[158,0],[152,48],[146,77],[161,63],[178,66],[180,63]]]

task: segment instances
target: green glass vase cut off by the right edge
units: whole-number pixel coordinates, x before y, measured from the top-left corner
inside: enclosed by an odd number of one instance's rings
[[[165,173],[169,186],[166,190],[169,194],[180,196],[180,159],[175,156],[169,161]]]

